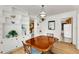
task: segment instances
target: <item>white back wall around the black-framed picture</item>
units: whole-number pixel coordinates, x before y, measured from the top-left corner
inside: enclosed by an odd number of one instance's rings
[[[48,29],[48,21],[55,20],[55,30],[49,30]],[[37,25],[39,24],[39,25]],[[58,30],[59,29],[59,30]],[[42,32],[40,32],[40,30]],[[39,35],[47,35],[47,33],[54,34],[55,37],[59,38],[61,37],[61,23],[60,20],[57,18],[54,18],[53,16],[47,16],[46,20],[43,22],[40,22],[40,18],[35,17],[35,29],[34,29],[35,36]]]

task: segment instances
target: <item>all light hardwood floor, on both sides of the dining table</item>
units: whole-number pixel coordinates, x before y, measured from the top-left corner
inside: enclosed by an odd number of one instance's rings
[[[75,48],[75,45],[65,42],[56,42],[51,51],[55,54],[79,54],[79,50]],[[11,52],[11,54],[25,54],[25,53],[23,47],[21,47]]]

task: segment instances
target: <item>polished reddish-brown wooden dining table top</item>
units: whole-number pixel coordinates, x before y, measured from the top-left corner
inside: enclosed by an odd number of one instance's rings
[[[53,44],[55,42],[56,40],[54,37],[45,35],[33,37],[25,41],[25,43],[29,45],[31,48],[35,48],[41,53],[49,51],[53,47]]]

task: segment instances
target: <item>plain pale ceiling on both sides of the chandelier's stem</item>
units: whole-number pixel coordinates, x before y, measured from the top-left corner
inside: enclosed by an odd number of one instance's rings
[[[22,11],[28,11],[30,15],[39,15],[41,5],[3,5],[0,8],[15,7]],[[79,8],[79,5],[45,5],[47,15],[54,15],[63,12],[73,11]]]

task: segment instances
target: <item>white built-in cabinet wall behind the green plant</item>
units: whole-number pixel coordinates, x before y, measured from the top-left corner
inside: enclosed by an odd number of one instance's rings
[[[22,46],[22,41],[30,38],[29,16],[28,13],[6,13],[3,17],[4,22],[0,21],[0,53],[9,53],[13,49]],[[17,37],[7,38],[9,31],[16,30]]]

